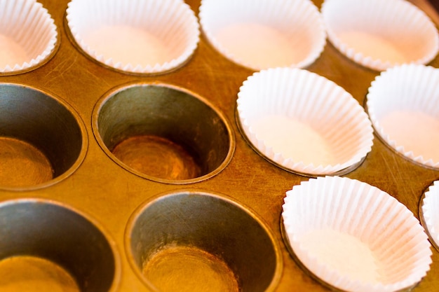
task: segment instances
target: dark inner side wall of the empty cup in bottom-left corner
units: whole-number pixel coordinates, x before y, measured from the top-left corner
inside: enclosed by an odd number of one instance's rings
[[[5,202],[0,205],[0,234],[0,259],[50,260],[72,275],[81,292],[106,292],[114,286],[112,246],[99,228],[72,209],[41,200]]]

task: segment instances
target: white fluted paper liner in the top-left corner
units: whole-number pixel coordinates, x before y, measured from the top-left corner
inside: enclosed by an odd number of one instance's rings
[[[0,73],[22,71],[47,61],[58,32],[35,0],[0,0]]]

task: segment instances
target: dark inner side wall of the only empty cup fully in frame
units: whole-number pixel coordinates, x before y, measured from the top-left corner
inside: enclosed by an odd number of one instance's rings
[[[200,169],[189,180],[219,172],[234,151],[229,124],[217,110],[187,91],[166,85],[122,88],[102,99],[94,119],[95,135],[109,152],[122,141],[140,136],[160,137],[181,146]],[[114,160],[125,165],[119,158]],[[151,178],[147,172],[142,174]]]

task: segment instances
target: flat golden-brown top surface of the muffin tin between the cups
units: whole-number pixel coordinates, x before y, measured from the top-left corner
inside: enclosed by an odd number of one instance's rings
[[[194,56],[180,69],[158,76],[124,74],[93,62],[72,43],[67,33],[67,25],[65,25],[65,10],[68,0],[40,1],[48,9],[58,26],[60,42],[58,50],[46,64],[32,71],[15,75],[0,75],[0,87],[2,84],[11,83],[20,86],[26,85],[46,92],[50,97],[59,98],[65,109],[74,112],[72,123],[60,123],[60,125],[66,126],[64,129],[67,129],[70,141],[76,141],[71,144],[75,151],[74,155],[69,156],[68,162],[58,161],[55,158],[54,161],[59,162],[61,174],[58,175],[55,169],[54,180],[40,184],[38,187],[1,187],[0,200],[7,201],[29,197],[50,199],[71,206],[94,218],[103,226],[105,235],[108,235],[110,241],[115,243],[113,290],[151,291],[151,288],[138,277],[133,265],[129,263],[127,256],[129,253],[126,251],[130,249],[130,246],[127,246],[125,242],[127,224],[130,216],[143,202],[151,200],[158,194],[179,193],[182,186],[172,181],[148,179],[116,163],[110,157],[110,153],[104,150],[100,138],[96,136],[97,132],[93,130],[95,127],[93,123],[96,120],[95,106],[102,97],[108,95],[108,92],[118,90],[126,84],[154,83],[180,88],[185,92],[193,92],[194,95],[202,97],[223,113],[229,122],[234,139],[236,139],[234,151],[227,153],[227,155],[231,155],[231,160],[227,165],[224,165],[224,169],[203,180],[189,180],[186,183],[193,190],[232,197],[236,202],[249,207],[262,218],[271,230],[273,239],[277,242],[281,252],[282,272],[276,275],[280,279],[274,287],[274,291],[328,291],[295,263],[288,253],[281,235],[281,209],[285,192],[308,178],[287,172],[264,160],[243,139],[238,125],[236,125],[236,95],[243,81],[253,74],[253,71],[239,67],[219,55],[201,35],[201,41]],[[321,0],[314,2],[318,7],[322,3]],[[187,0],[187,3],[198,14],[200,0]],[[439,67],[439,58],[436,57],[431,65]],[[325,46],[323,54],[307,69],[335,81],[350,92],[360,104],[364,104],[367,88],[375,76],[379,74],[377,71],[365,69],[351,62],[335,50],[329,42]],[[0,95],[5,95],[1,88]],[[30,111],[34,108],[35,105],[32,102],[20,104],[20,109],[24,111]],[[57,111],[57,113],[60,112]],[[76,113],[80,118],[77,127],[76,122],[74,122]],[[55,114],[55,116],[60,115]],[[48,124],[57,125],[58,122]],[[95,130],[97,130],[96,127]],[[57,134],[65,135],[62,131]],[[34,135],[33,138],[38,143],[41,142],[40,145],[46,145],[43,143],[45,139],[38,135]],[[34,143],[34,146],[38,143]],[[69,147],[65,147],[66,142],[59,144],[54,139],[48,141],[48,144],[53,145],[53,147],[42,147],[52,165],[54,162],[52,162],[53,159],[50,155],[64,157],[63,155],[58,156],[58,154],[69,152]],[[37,148],[40,147],[37,146]],[[66,166],[67,171],[65,170]],[[414,213],[414,216],[419,218],[418,206],[421,195],[433,181],[439,179],[439,171],[415,165],[375,137],[372,151],[363,163],[344,176],[370,183],[386,191],[405,204]],[[7,217],[4,214],[0,214],[0,222],[5,218]],[[27,226],[17,225],[14,234],[18,235],[26,230],[29,230]],[[2,236],[1,241],[3,238]],[[4,245],[0,244],[0,246]],[[107,251],[107,257],[112,258],[112,252]],[[435,249],[432,251],[431,270],[412,290],[414,292],[439,290],[439,252]],[[2,251],[0,250],[0,252]],[[76,257],[81,258],[79,253]],[[120,270],[117,268],[119,260]],[[78,279],[76,281],[79,282]],[[82,288],[81,291],[88,291],[81,284],[79,286]]]

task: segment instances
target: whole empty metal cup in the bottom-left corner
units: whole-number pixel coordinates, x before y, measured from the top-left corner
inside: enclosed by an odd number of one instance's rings
[[[0,218],[2,291],[116,291],[119,257],[90,218],[42,199],[1,202]]]

